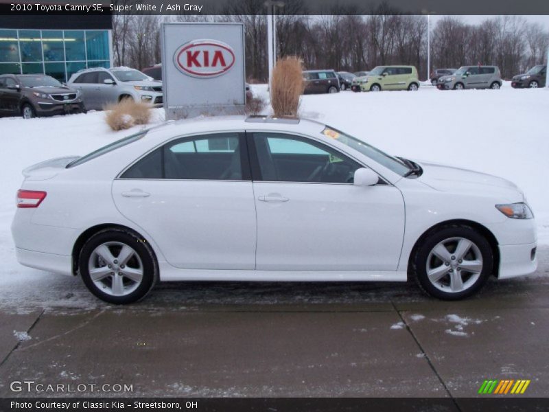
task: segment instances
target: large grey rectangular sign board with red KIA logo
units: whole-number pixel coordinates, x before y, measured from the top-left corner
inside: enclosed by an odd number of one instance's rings
[[[244,25],[163,23],[166,119],[243,114]]]

